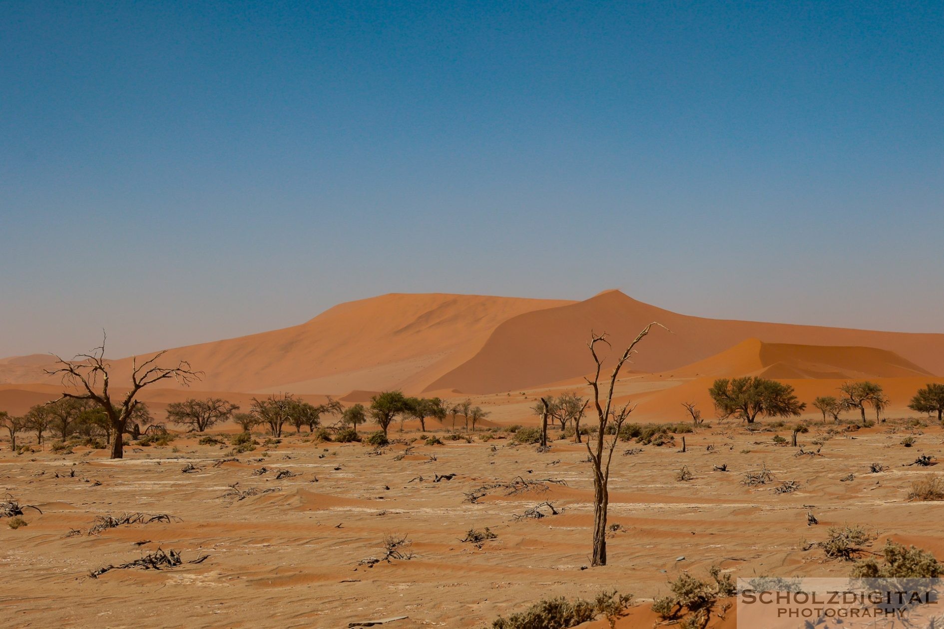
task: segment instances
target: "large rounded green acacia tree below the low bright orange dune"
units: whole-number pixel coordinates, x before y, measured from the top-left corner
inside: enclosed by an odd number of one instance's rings
[[[708,393],[719,417],[736,417],[748,423],[753,423],[758,415],[798,416],[806,408],[794,395],[793,387],[758,376],[719,378]]]

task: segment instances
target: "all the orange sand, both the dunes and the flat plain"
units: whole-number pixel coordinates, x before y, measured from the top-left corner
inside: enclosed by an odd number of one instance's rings
[[[706,424],[684,435],[686,452],[683,435],[661,447],[619,443],[609,565],[587,569],[593,484],[585,446],[554,430],[550,451],[537,453],[504,428],[537,425],[531,406],[543,395],[588,395],[582,377],[592,366],[590,330],[607,331],[621,349],[650,321],[671,332],[656,330],[640,345],[615,400],[635,405],[632,422],[686,422],[682,403],[693,402]],[[652,626],[658,618],[649,602],[681,571],[701,576],[716,565],[734,576],[848,574],[847,563],[804,550],[834,525],[861,523],[876,546],[890,537],[944,556],[936,537],[940,503],[907,500],[911,482],[935,472],[907,464],[922,454],[937,458],[944,443],[935,422],[906,407],[926,383],[944,383],[941,334],[701,319],[619,291],[579,302],[391,294],[164,358],[189,360],[205,375],[191,389],[143,389],[140,398],[159,421],[168,404],[190,397],[223,397],[247,410],[253,397],[293,392],[347,406],[369,404],[385,389],[450,403],[469,397],[489,415],[472,434],[461,417],[429,420],[425,434],[417,422],[404,422],[402,432],[395,422],[395,442],[379,449],[319,442],[289,428],[278,441],[260,430],[254,450],[234,455],[232,424],[214,426],[208,434],[220,442],[211,444],[170,426],[176,439],[131,442],[116,461],[83,446],[53,452],[51,438],[40,446],[28,432],[19,439],[32,444],[23,454],[0,442],[0,490],[38,507],[25,511],[25,526],[0,526],[0,603],[10,626],[344,627],[406,616],[389,626],[481,627],[541,598],[613,588],[637,601],[617,626]],[[120,393],[130,358],[111,364]],[[0,410],[21,415],[56,399],[62,387],[43,373],[48,368],[43,355],[0,360]],[[812,427],[799,445],[819,452],[798,455],[788,441],[774,440],[790,438],[788,425],[762,420],[748,430],[713,417],[712,382],[742,375],[789,384],[807,405],[844,382],[868,379],[889,396],[890,419],[854,429],[848,421],[823,423],[808,406],[801,420]],[[902,445],[906,435],[917,438],[914,447]],[[429,436],[443,443],[427,444]],[[874,462],[887,469],[869,472]],[[728,472],[714,471],[720,464]],[[183,472],[186,466],[195,470]],[[676,480],[683,466],[692,480]],[[742,484],[762,466],[777,483],[797,481],[800,489],[779,495],[770,485]],[[285,471],[292,473],[277,479]],[[849,473],[853,480],[840,482]],[[474,503],[466,497],[516,478],[536,486],[488,489]],[[226,497],[234,484],[271,491]],[[546,517],[520,518],[545,503],[559,513],[545,506]],[[818,525],[807,525],[808,511]],[[172,518],[88,534],[96,517],[127,512]],[[497,538],[480,547],[462,541],[470,528],[484,527]],[[382,557],[389,535],[409,539],[410,558],[365,565]],[[184,563],[89,576],[159,548],[179,552]],[[733,610],[711,626],[733,627]]]

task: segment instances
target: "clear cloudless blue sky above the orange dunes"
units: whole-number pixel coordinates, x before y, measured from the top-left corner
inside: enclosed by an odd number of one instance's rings
[[[944,4],[0,2],[0,356],[384,292],[944,332]]]

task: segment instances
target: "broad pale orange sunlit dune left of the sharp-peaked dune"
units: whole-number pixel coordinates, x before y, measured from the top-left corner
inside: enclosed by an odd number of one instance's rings
[[[388,294],[334,306],[295,327],[179,347],[170,350],[161,364],[188,360],[195,370],[206,372],[194,389],[297,393],[423,389],[474,356],[499,323],[568,303]],[[125,379],[130,359],[112,364],[115,379]],[[0,383],[44,381],[48,379],[42,365],[0,365]]]

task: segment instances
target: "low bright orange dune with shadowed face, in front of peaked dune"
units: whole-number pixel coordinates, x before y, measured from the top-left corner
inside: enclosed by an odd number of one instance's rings
[[[876,378],[931,375],[894,352],[874,347],[797,345],[747,339],[720,354],[673,370],[675,377]]]

